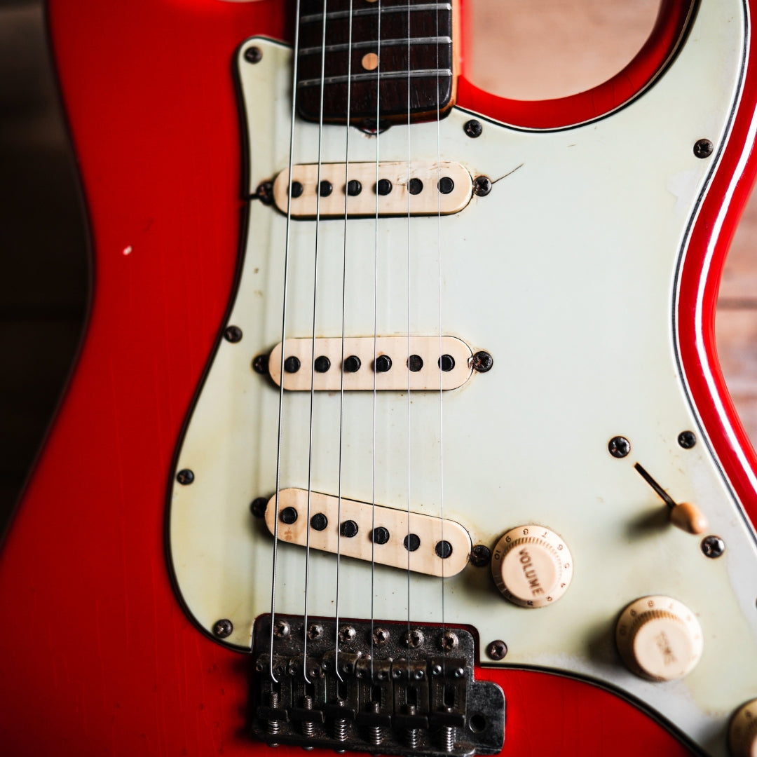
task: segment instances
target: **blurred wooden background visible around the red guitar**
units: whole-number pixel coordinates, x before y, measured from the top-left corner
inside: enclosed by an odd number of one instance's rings
[[[467,4],[475,42],[466,56],[478,86],[539,99],[579,92],[621,70],[650,33],[659,0]],[[240,40],[244,36],[240,30]],[[42,4],[0,0],[0,524],[30,469],[82,328],[88,263],[77,192]],[[757,440],[755,240],[753,199],[727,261],[717,316],[721,364],[752,440]]]

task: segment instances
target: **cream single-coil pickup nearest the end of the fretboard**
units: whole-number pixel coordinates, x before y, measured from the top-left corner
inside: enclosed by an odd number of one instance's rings
[[[273,201],[293,218],[348,216],[435,216],[463,210],[473,182],[453,160],[410,163],[322,163],[283,170],[273,182]]]

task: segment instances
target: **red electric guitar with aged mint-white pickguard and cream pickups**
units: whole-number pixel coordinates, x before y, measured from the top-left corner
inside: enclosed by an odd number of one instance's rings
[[[535,103],[467,5],[49,0],[94,286],[0,556],[8,755],[757,753],[753,5]]]

